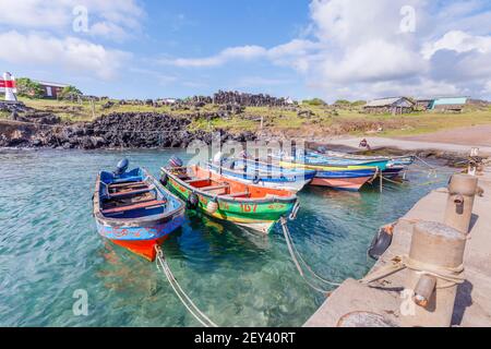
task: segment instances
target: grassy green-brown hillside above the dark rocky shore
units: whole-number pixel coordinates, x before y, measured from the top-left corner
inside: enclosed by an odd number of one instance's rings
[[[169,106],[120,106],[103,108],[106,101],[82,104],[47,99],[26,99],[27,106],[58,115],[64,121],[91,121],[110,112],[160,112],[185,117],[189,113],[216,112],[219,106],[206,105],[202,108],[171,110]],[[116,101],[115,101],[116,103]],[[7,117],[1,113],[0,118]],[[339,134],[379,134],[403,136],[429,133],[444,129],[491,124],[491,107],[468,106],[463,113],[415,112],[405,116],[366,115],[360,105],[312,106],[297,108],[248,107],[240,115],[229,118],[199,118],[192,123],[193,129],[214,130],[217,128],[235,131],[260,131],[263,120],[265,133],[288,135],[339,135]]]

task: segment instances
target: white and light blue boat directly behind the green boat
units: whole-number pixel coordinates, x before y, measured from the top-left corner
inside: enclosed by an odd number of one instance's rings
[[[315,177],[314,170],[287,169],[261,161],[227,159],[221,166],[213,163],[207,168],[225,177],[247,184],[284,189],[298,192]]]

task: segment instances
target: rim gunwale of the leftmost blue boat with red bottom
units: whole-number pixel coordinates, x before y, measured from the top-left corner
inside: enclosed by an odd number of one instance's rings
[[[104,226],[113,227],[113,228],[118,228],[118,227],[131,227],[131,228],[142,227],[142,228],[144,228],[144,227],[152,227],[155,225],[168,222],[168,221],[172,220],[176,216],[180,216],[181,214],[184,214],[185,203],[180,197],[178,197],[177,195],[171,193],[169,190],[167,190],[164,185],[161,185],[161,183],[155,177],[153,177],[146,170],[146,168],[142,167],[141,169],[142,169],[142,172],[144,173],[144,177],[143,177],[144,181],[149,179],[155,184],[155,190],[157,190],[159,192],[167,192],[168,195],[172,196],[172,198],[179,203],[179,207],[175,208],[172,210],[169,210],[169,212],[164,212],[158,215],[152,215],[152,216],[140,217],[140,218],[107,217],[100,210],[100,205],[99,205],[100,204],[99,191],[100,191],[100,183],[101,183],[100,174],[103,173],[103,171],[99,171],[99,173],[97,174],[97,178],[96,178],[96,186],[95,186],[94,198],[93,198],[94,217],[96,218],[96,220],[99,224],[101,224]]]

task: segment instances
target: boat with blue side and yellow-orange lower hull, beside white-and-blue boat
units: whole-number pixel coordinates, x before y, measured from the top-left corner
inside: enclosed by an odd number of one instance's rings
[[[322,166],[279,161],[286,168],[306,168],[315,170],[315,178],[310,183],[337,190],[358,191],[380,173],[378,167],[366,166]]]

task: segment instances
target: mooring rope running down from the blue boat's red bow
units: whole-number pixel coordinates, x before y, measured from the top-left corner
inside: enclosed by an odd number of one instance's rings
[[[176,292],[177,297],[182,302],[182,304],[185,306],[185,309],[188,309],[191,315],[193,315],[194,318],[197,320],[203,326],[218,327],[213,321],[209,320],[208,316],[206,316],[206,314],[204,314],[196,306],[196,304],[194,304],[194,302],[189,298],[189,296],[185,294],[185,292],[182,290],[172,272],[170,270],[169,265],[167,264],[164,251],[158,245],[155,246],[155,250],[157,251],[157,257],[155,258],[157,269],[164,272],[164,274],[167,277],[167,280],[169,281],[170,286],[172,287],[173,291]]]

